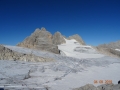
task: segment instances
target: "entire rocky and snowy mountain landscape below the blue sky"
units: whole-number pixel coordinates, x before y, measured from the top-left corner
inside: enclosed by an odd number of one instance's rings
[[[119,41],[93,47],[78,34],[37,28],[16,46],[0,45],[0,88],[120,90],[119,57]]]

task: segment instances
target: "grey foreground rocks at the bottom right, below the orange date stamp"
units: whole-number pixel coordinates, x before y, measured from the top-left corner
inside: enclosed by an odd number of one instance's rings
[[[87,84],[80,88],[75,88],[73,90],[120,90],[120,84],[103,84],[100,86],[95,87],[92,84]]]

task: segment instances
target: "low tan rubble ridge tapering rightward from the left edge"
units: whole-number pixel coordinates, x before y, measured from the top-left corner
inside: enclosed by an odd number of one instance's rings
[[[21,60],[21,61],[32,61],[32,62],[54,61],[51,58],[38,57],[33,54],[18,53],[4,47],[3,45],[0,45],[0,60]]]

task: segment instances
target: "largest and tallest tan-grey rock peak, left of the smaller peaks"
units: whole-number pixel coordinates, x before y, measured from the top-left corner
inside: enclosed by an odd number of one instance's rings
[[[18,46],[59,53],[58,47],[53,44],[52,34],[45,28],[36,29],[34,33],[19,43]]]

